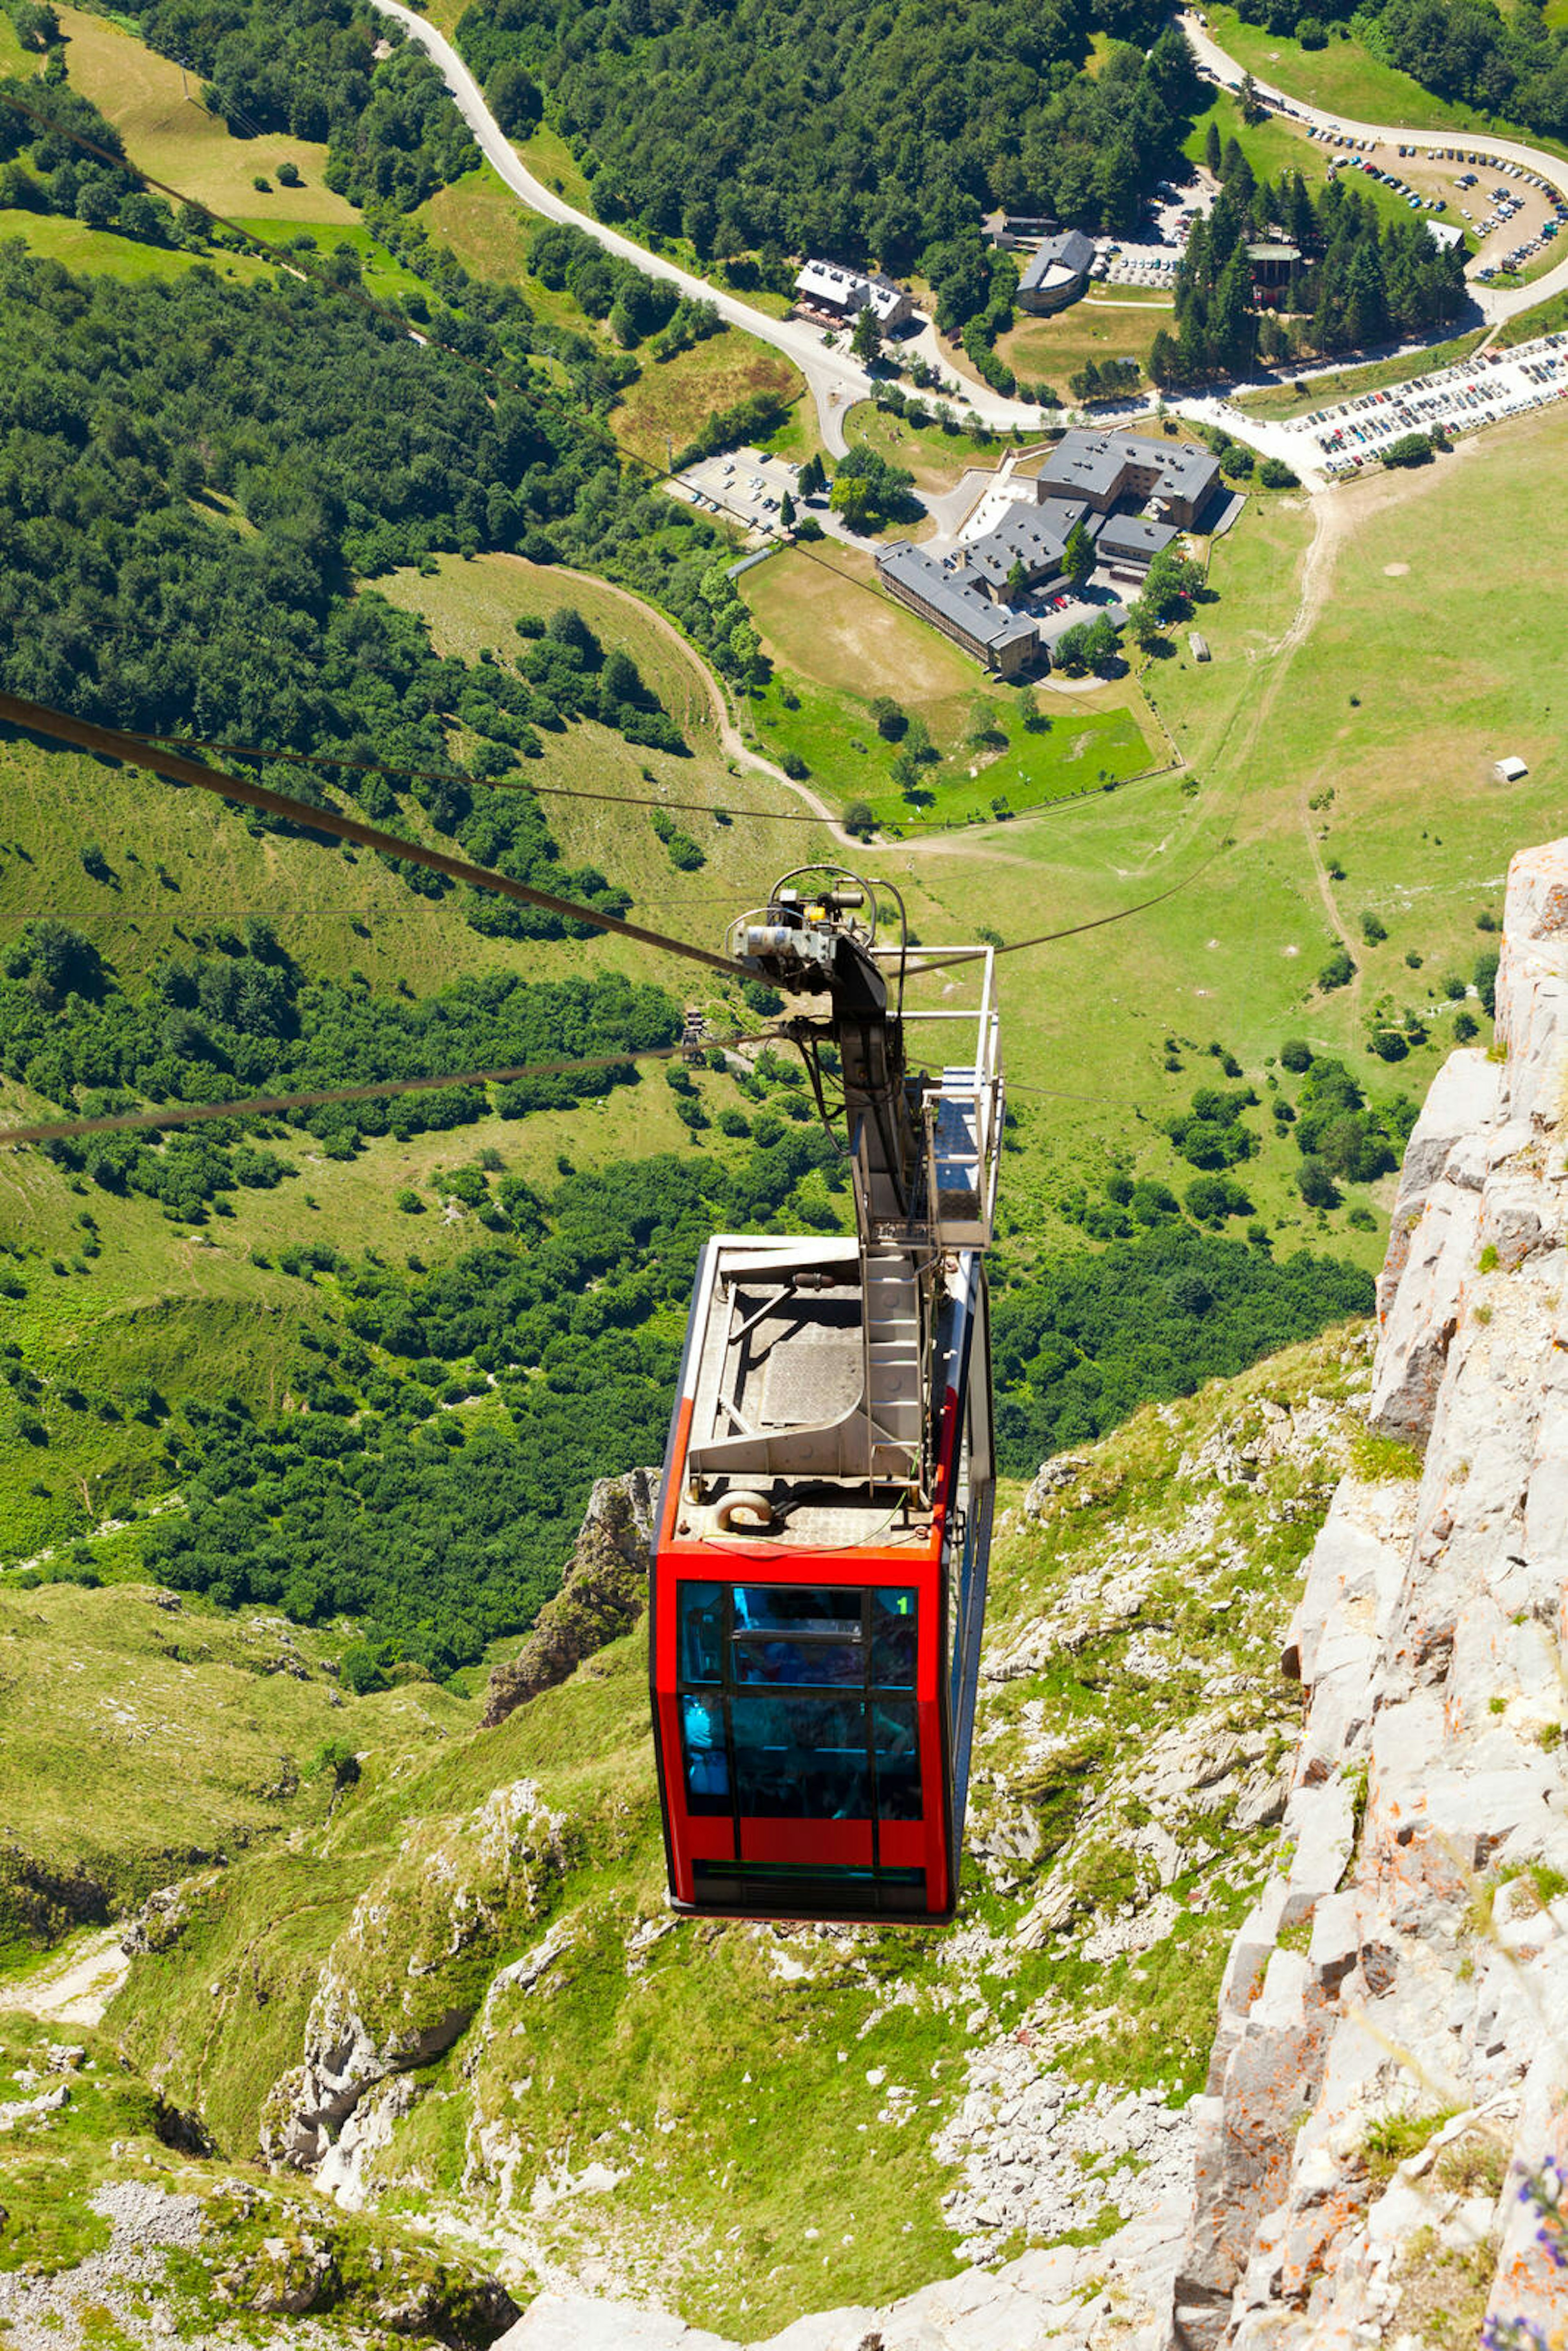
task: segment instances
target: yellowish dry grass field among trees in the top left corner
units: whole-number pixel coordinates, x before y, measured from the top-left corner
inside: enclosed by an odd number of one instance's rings
[[[92,99],[125,136],[125,153],[143,172],[195,197],[209,212],[254,214],[256,179],[273,181],[268,223],[308,228],[313,221],[353,221],[357,214],[324,181],[327,148],[284,132],[233,139],[228,125],[200,106],[200,75],[158,56],[103,16],[56,9],[66,35],[71,87]],[[280,188],[277,165],[296,162],[303,188]]]

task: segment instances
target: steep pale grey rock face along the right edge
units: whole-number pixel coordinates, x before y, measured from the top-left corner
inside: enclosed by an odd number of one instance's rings
[[[1509,875],[1497,1046],[1406,1152],[1382,1474],[1342,1481],[1286,1641],[1293,1853],[1197,2102],[1182,2351],[1568,2342],[1566,1074],[1556,842]]]

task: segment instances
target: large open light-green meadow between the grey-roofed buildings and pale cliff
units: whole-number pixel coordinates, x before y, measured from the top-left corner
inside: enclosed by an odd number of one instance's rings
[[[1495,529],[1495,515],[1521,501],[1542,517],[1523,557]],[[1211,1041],[1241,1060],[1265,1107],[1269,1079],[1295,1093],[1269,1067],[1293,1034],[1345,1056],[1375,1100],[1420,1100],[1453,1044],[1443,976],[1469,978],[1476,955],[1495,945],[1476,915],[1500,907],[1509,856],[1563,830],[1561,421],[1523,418],[1420,475],[1335,489],[1314,616],[1295,639],[1319,513],[1321,501],[1305,496],[1251,498],[1213,545],[1215,600],[1197,611],[1213,663],[1194,665],[1175,630],[1171,656],[1145,672],[1190,762],[1185,778],[1065,799],[1034,823],[877,849],[875,870],[910,893],[926,940],[966,938],[980,924],[1004,940],[1027,938],[1190,877],[1126,926],[999,966],[1009,1103],[1020,1114],[1020,1152],[1004,1168],[1011,1251],[1079,1246],[1058,1201],[1112,1166],[1182,1192],[1192,1168],[1161,1121],[1213,1081]],[[771,585],[778,595],[785,581]],[[1490,616],[1486,630],[1476,614]],[[860,689],[917,708],[893,658],[867,663]],[[795,691],[804,712],[818,708]],[[1001,698],[978,682],[976,691]],[[1039,698],[1051,710],[1048,694]],[[1065,731],[1063,719],[1056,734]],[[825,722],[820,738],[830,741]],[[827,766],[823,752],[813,778],[823,792],[875,797],[865,776],[891,759],[867,722],[858,738],[867,743],[853,755],[858,773]],[[1523,785],[1490,783],[1502,750],[1530,764]],[[1352,987],[1321,994],[1312,983],[1338,936],[1331,910],[1361,969]],[[1378,912],[1387,943],[1363,945],[1363,910]],[[1368,1030],[1403,1011],[1427,1020],[1429,1041],[1389,1067],[1371,1056]],[[1469,1013],[1479,1018],[1474,999]],[[1375,1267],[1392,1178],[1371,1192],[1352,1187],[1340,1208],[1309,1211],[1295,1190],[1293,1138],[1276,1140],[1262,1112],[1251,1124],[1260,1150],[1237,1173],[1274,1251],[1331,1248]],[[1375,1230],[1352,1227],[1352,1206],[1371,1206]]]

